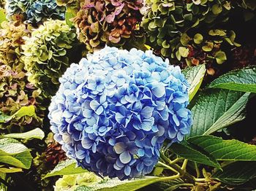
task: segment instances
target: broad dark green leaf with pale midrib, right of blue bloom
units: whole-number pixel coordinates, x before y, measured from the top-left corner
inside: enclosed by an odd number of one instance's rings
[[[201,93],[192,107],[189,136],[208,135],[244,119],[249,93],[210,89]]]

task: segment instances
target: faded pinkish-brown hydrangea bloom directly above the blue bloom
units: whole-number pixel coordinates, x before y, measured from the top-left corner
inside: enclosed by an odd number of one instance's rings
[[[79,9],[73,22],[80,41],[86,43],[90,52],[105,47],[105,44],[121,47],[128,46],[129,41],[144,43],[139,25],[143,17],[140,13],[142,0],[80,0],[76,5]]]

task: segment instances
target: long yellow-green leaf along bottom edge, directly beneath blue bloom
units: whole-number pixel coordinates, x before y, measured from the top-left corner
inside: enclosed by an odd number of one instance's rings
[[[119,179],[109,179],[107,182],[95,184],[94,189],[97,191],[134,191],[142,187],[146,187],[149,184],[160,182],[162,179],[165,178],[156,176],[145,176],[143,178],[124,181],[121,181]]]

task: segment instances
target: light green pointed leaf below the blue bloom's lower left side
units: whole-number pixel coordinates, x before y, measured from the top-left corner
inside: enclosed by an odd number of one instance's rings
[[[59,175],[69,175],[69,174],[80,174],[87,172],[86,169],[81,167],[76,167],[75,160],[64,160],[50,171],[50,173],[46,174],[42,179],[46,179],[50,176],[59,176]]]

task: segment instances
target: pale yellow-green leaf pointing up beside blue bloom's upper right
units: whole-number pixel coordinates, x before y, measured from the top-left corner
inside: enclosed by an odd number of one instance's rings
[[[184,69],[182,73],[184,74],[184,76],[186,77],[187,81],[190,84],[189,101],[191,101],[203,82],[203,77],[206,74],[206,66],[202,64],[199,66],[190,67],[190,68]]]

